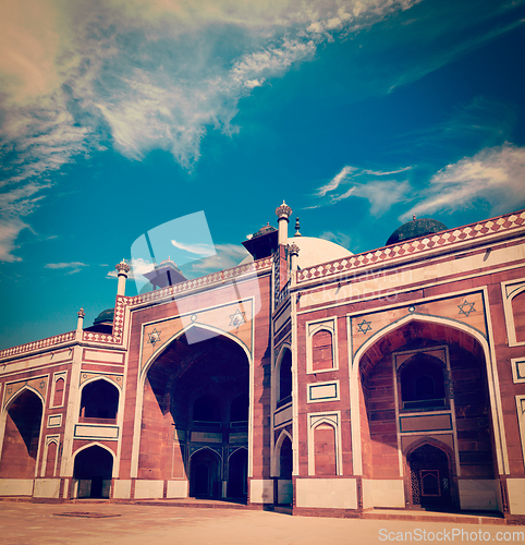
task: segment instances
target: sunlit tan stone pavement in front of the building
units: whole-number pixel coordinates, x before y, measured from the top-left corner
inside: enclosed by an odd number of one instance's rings
[[[80,513],[86,517],[78,517]],[[192,545],[346,545],[405,542],[411,541],[411,536],[412,542],[420,543],[438,541],[525,543],[525,526],[441,523],[422,520],[290,517],[258,510],[109,502],[0,502],[0,544],[9,545],[182,545],[186,543]]]

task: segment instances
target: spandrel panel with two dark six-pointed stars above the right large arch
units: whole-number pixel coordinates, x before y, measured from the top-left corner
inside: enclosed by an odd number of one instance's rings
[[[392,300],[392,303],[395,301]],[[395,323],[402,323],[407,317],[417,316],[427,317],[422,324],[423,337],[431,338],[432,325],[428,320],[429,317],[447,318],[448,320],[457,322],[481,334],[487,338],[487,325],[485,319],[484,299],[480,292],[463,294],[453,298],[431,301],[424,304],[407,304],[400,308],[388,308],[382,312],[374,312],[352,317],[352,356],[378,332],[384,328],[390,328]],[[427,331],[426,331],[427,329]]]

